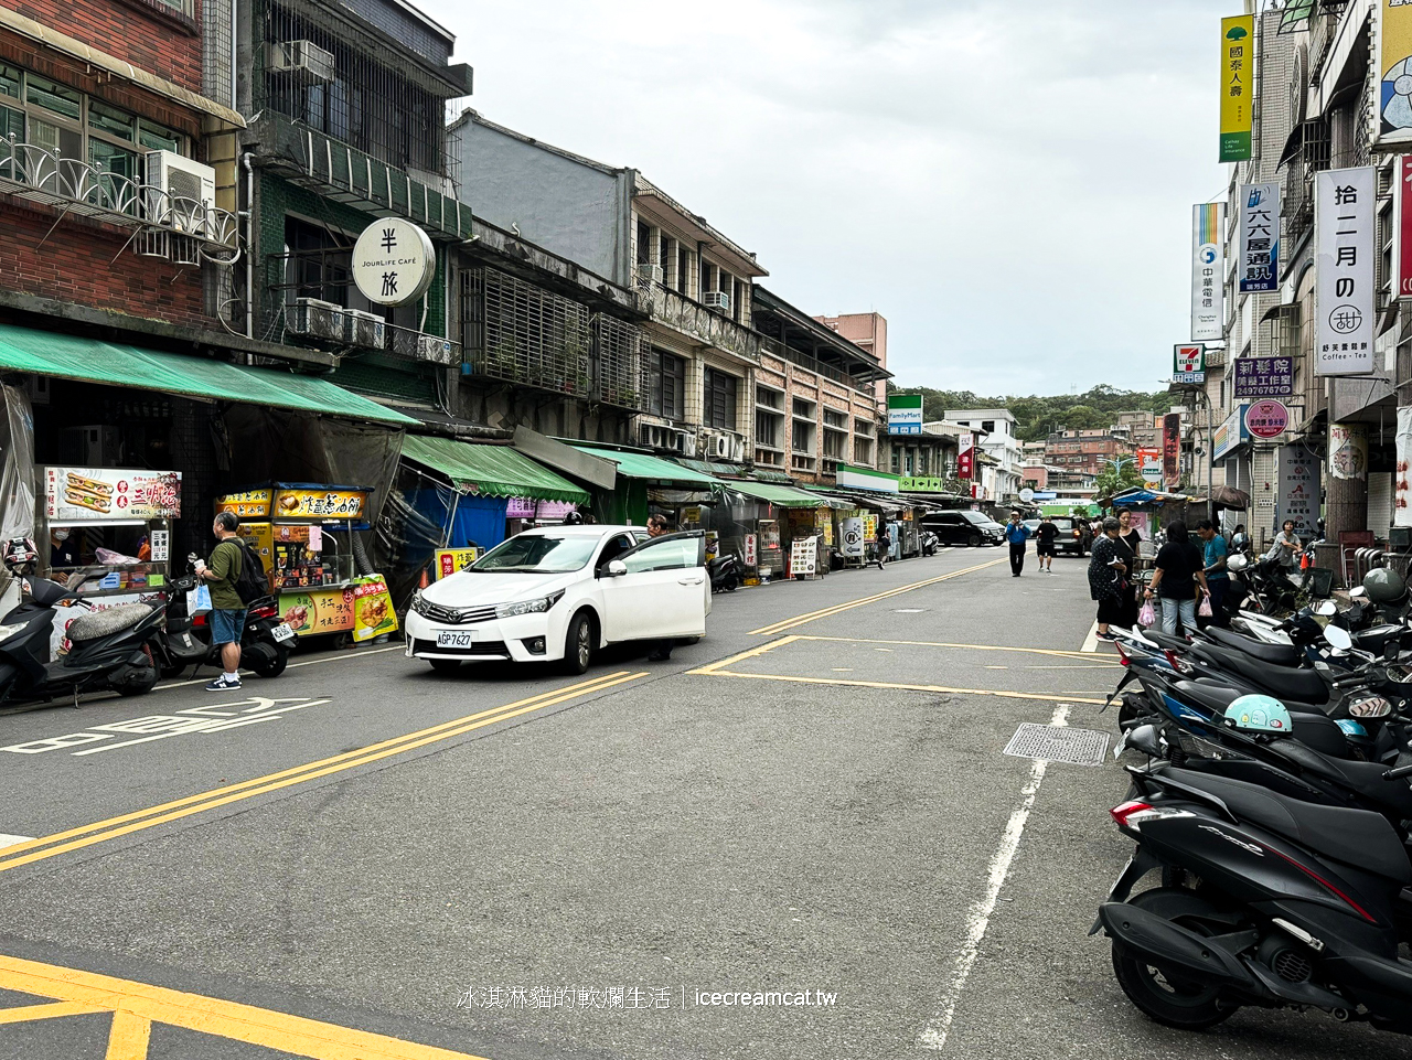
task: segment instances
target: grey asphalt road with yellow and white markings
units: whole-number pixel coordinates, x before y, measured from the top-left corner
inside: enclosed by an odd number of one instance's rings
[[[1114,734],[1055,570],[741,590],[585,677],[364,649],[0,717],[0,1059],[1412,1057],[1121,995],[1121,769],[1003,754]]]

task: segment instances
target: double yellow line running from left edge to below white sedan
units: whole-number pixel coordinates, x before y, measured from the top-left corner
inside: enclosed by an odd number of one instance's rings
[[[356,769],[360,765],[377,762],[383,758],[400,755],[407,751],[415,751],[419,747],[450,740],[452,737],[472,733],[484,725],[494,725],[500,721],[507,721],[513,717],[520,717],[521,714],[544,710],[545,707],[552,707],[558,703],[566,703],[570,699],[606,692],[607,689],[618,685],[627,685],[628,682],[638,680],[645,676],[648,676],[645,672],[631,673],[628,670],[609,673],[602,677],[594,677],[593,680],[568,685],[562,689],[552,689],[551,692],[531,696],[530,699],[481,710],[477,714],[469,714],[466,717],[456,718],[455,721],[443,721],[439,725],[432,725],[431,728],[422,728],[417,733],[408,733],[407,735],[384,740],[380,744],[371,744],[369,747],[359,748],[357,751],[345,751],[343,754],[333,755],[332,758],[322,758],[318,762],[308,762],[306,765],[298,765],[292,769],[282,769],[277,773],[257,776],[253,781],[243,781],[241,783],[233,783],[226,788],[217,788],[199,795],[188,795],[185,799],[161,803],[160,806],[150,806],[145,810],[124,813],[120,817],[109,817],[107,820],[93,821],[92,824],[85,824],[79,829],[55,833],[54,836],[41,836],[40,838],[17,843],[13,847],[4,847],[0,850],[0,872],[6,872],[11,868],[20,868],[21,865],[28,865],[35,861],[44,861],[45,858],[52,858],[58,854],[82,850],[83,847],[92,847],[95,843],[130,836],[131,833],[143,831],[144,829],[154,829],[160,824],[181,820],[182,817],[191,817],[196,813],[205,813],[206,810],[229,806],[230,803],[241,802],[243,799],[254,799],[256,796],[267,795],[270,792],[280,790],[281,788],[306,783],[309,781],[316,781],[321,776],[329,776],[330,773],[343,772],[346,769]]]

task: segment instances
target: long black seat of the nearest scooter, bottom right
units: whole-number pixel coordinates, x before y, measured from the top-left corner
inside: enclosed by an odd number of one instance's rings
[[[1412,864],[1408,864],[1406,848],[1381,813],[1300,802],[1260,785],[1192,769],[1168,769],[1166,775],[1214,795],[1236,817],[1293,840],[1333,861],[1404,885],[1412,884]]]

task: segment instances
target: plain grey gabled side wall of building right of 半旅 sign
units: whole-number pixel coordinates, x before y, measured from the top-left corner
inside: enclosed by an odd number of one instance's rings
[[[631,284],[631,169],[606,172],[473,119],[457,134],[460,200],[477,217]]]

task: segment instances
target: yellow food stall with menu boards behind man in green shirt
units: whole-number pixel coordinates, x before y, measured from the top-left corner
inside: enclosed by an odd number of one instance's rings
[[[357,642],[397,630],[381,574],[359,574],[353,534],[369,528],[366,486],[270,483],[216,498],[264,560],[280,614],[299,637],[350,634]]]

